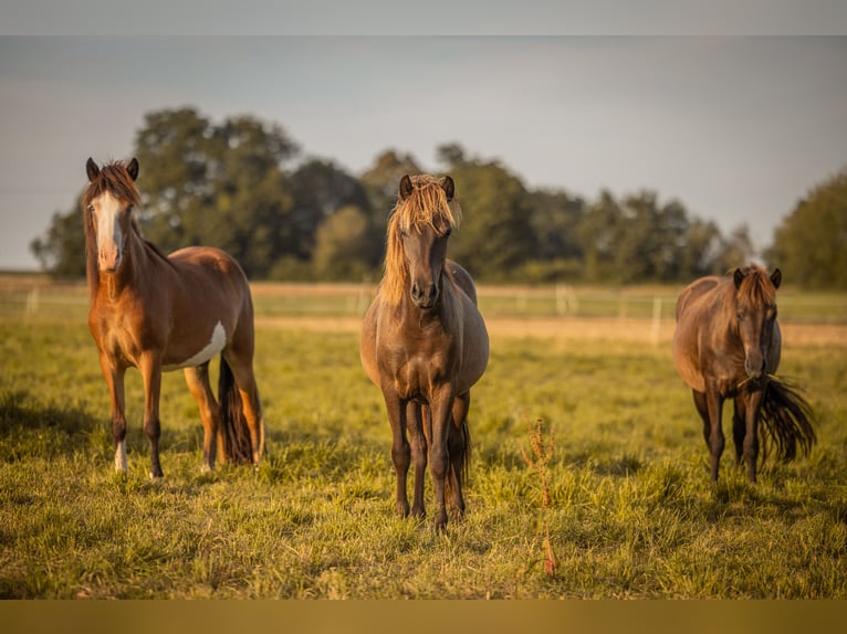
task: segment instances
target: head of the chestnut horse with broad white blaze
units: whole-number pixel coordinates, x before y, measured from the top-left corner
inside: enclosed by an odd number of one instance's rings
[[[85,163],[88,187],[82,199],[90,249],[96,250],[100,271],[115,273],[124,260],[124,247],[132,228],[132,210],[140,194],[135,186],[138,161],[114,161],[97,167],[91,158]]]

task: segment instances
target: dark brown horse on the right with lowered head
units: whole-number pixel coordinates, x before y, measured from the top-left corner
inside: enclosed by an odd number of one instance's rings
[[[754,264],[731,276],[702,277],[677,300],[673,363],[691,388],[703,420],[711,457],[712,483],[724,447],[721,414],[734,399],[732,438],[747,478],[756,482],[760,433],[776,445],[785,462],[808,455],[816,441],[812,410],[803,397],[774,374],[780,366],[782,335],[776,321],[776,288],[782,273],[771,276]],[[760,430],[760,421],[764,423]],[[764,443],[762,458],[767,456]]]

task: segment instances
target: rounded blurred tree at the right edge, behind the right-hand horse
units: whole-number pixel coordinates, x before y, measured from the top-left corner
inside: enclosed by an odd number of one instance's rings
[[[768,266],[809,288],[847,289],[847,169],[801,200],[774,232]]]

